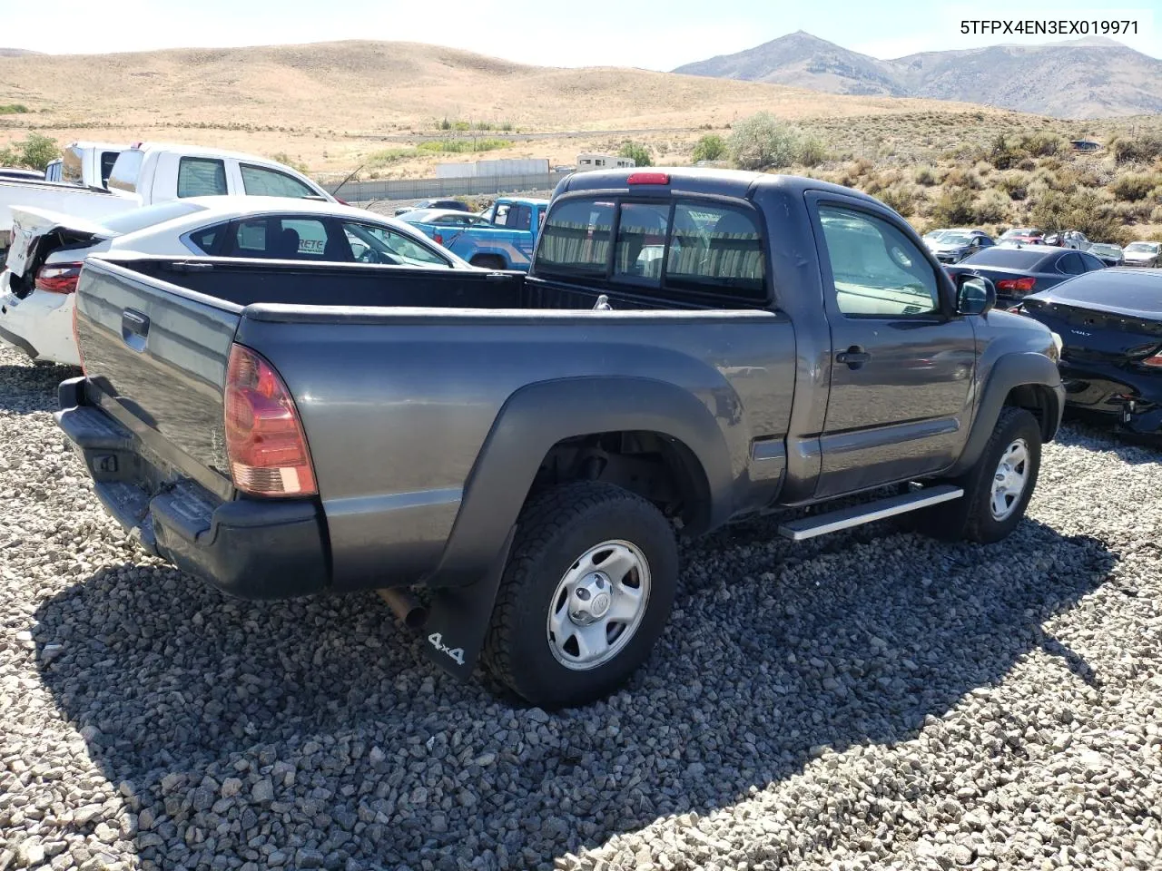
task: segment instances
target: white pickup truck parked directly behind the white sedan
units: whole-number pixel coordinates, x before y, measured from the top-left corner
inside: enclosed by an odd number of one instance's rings
[[[194,145],[136,143],[122,151],[107,187],[63,181],[0,181],[0,258],[12,239],[12,207],[27,206],[79,218],[187,196],[249,194],[336,202],[318,185],[274,160]]]

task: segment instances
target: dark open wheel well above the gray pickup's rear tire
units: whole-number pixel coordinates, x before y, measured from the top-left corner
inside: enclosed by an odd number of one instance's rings
[[[710,521],[710,485],[702,463],[679,439],[640,430],[561,439],[540,461],[529,496],[571,481],[605,481],[652,503],[682,528]]]

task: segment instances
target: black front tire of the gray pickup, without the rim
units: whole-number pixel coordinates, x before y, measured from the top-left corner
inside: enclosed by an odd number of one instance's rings
[[[1023,439],[1028,451],[1028,469],[1025,488],[1016,501],[1012,512],[997,519],[991,509],[992,481],[1009,446]],[[926,535],[945,541],[968,540],[980,544],[1000,541],[1006,538],[1025,517],[1025,509],[1037,487],[1041,469],[1041,426],[1025,409],[1005,405],[997,416],[992,436],[981,452],[980,459],[968,472],[947,483],[963,488],[959,499],[933,505],[917,511],[912,517],[913,527]]]

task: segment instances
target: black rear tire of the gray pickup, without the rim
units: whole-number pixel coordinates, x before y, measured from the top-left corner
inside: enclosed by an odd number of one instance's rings
[[[550,607],[566,573],[607,541],[629,542],[644,555],[648,598],[636,631],[612,658],[575,670],[550,647]],[[555,487],[530,499],[521,512],[485,641],[486,671],[545,710],[608,696],[646,661],[661,635],[674,604],[677,564],[673,527],[636,494],[589,481]]]

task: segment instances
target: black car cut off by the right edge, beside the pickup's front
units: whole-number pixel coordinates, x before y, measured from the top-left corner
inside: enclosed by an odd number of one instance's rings
[[[1068,408],[1162,434],[1162,269],[1086,273],[1026,297],[1019,310],[1061,337]]]

